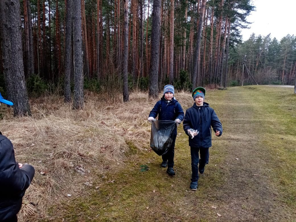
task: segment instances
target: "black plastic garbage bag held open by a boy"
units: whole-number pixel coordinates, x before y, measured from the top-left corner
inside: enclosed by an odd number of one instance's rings
[[[172,133],[176,126],[175,121],[152,121],[150,147],[157,155],[161,156],[168,152],[173,141]]]

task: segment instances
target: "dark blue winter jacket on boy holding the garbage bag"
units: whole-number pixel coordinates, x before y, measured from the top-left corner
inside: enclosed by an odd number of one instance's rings
[[[181,104],[178,100],[173,97],[171,102],[168,102],[164,96],[157,101],[153,109],[151,110],[149,117],[156,118],[158,115],[158,120],[171,120],[175,121],[175,119],[183,120],[184,119],[184,111],[181,107]],[[173,132],[177,135],[177,128]]]

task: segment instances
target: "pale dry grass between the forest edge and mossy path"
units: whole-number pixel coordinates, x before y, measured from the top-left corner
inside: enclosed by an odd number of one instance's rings
[[[47,96],[31,100],[33,115],[23,118],[14,118],[2,105],[2,133],[12,140],[17,161],[36,169],[19,221],[45,218],[49,207],[64,202],[67,194],[83,195],[84,183],[149,148],[147,117],[155,102],[137,92],[128,103],[108,106],[100,95],[88,93],[85,109],[72,110],[62,97]]]

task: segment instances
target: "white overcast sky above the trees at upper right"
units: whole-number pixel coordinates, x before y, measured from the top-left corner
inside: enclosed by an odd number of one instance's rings
[[[253,22],[250,29],[243,29],[242,39],[246,41],[252,33],[256,36],[266,36],[271,33],[271,39],[278,41],[287,34],[296,35],[296,0],[252,0],[256,8],[247,17]]]

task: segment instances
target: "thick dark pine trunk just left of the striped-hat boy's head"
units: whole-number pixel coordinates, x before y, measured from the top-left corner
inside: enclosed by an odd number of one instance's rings
[[[149,97],[158,97],[158,67],[160,43],[160,10],[161,0],[153,1],[152,32],[151,32],[151,59],[149,75]]]

